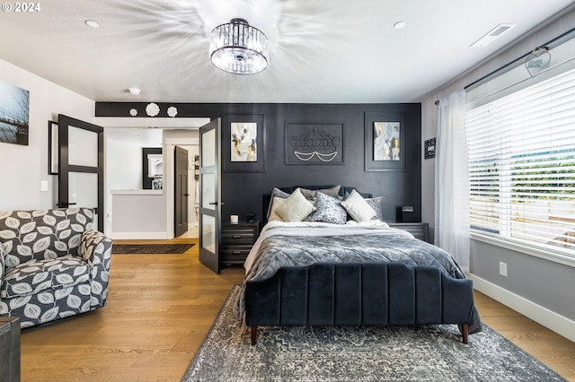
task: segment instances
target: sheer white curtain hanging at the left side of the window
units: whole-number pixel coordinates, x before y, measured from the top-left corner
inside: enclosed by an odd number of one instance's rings
[[[439,100],[435,159],[435,244],[469,271],[469,173],[465,91]]]

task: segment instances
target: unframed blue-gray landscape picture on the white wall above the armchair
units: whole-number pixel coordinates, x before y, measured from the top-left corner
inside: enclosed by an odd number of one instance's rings
[[[0,143],[28,145],[30,91],[0,81]]]

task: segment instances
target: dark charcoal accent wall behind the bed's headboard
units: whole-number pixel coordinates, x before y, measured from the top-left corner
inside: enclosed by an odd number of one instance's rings
[[[228,104],[228,103],[160,103],[157,117],[168,117],[174,106],[177,117],[222,117],[229,114],[258,114],[264,117],[266,172],[222,173],[222,220],[230,214],[256,213],[261,219],[261,200],[273,187],[306,185],[342,185],[383,196],[385,221],[395,221],[396,207],[412,205],[414,220],[421,219],[421,105],[400,104]],[[137,109],[146,117],[146,102],[96,102],[96,117],[129,117]],[[372,143],[366,136],[369,116],[402,116],[405,146],[404,169],[366,171],[364,156]],[[341,164],[285,164],[286,122],[341,124]],[[369,126],[368,126],[369,127]],[[370,128],[370,127],[369,127]],[[226,131],[225,128],[222,129]],[[229,151],[231,137],[222,135],[222,150]],[[261,148],[258,147],[258,158]],[[222,156],[224,158],[224,156]],[[378,164],[381,164],[379,162]],[[372,166],[373,168],[373,166]]]

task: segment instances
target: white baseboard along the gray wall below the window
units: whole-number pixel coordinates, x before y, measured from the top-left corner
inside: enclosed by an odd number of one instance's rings
[[[481,291],[493,300],[498,300],[501,304],[516,310],[523,316],[531,318],[575,343],[575,321],[535,304],[535,302],[527,300],[512,291],[507,291],[493,282],[477,277],[473,273],[467,273],[467,277],[473,280],[473,287],[477,291]]]

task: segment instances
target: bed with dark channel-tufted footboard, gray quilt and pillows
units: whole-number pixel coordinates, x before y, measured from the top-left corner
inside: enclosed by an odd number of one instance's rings
[[[439,247],[390,228],[354,187],[274,188],[244,267],[238,319],[258,326],[456,324],[481,331],[473,282]],[[367,208],[370,207],[370,208]]]

